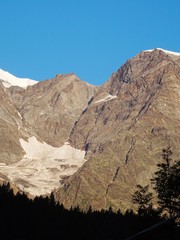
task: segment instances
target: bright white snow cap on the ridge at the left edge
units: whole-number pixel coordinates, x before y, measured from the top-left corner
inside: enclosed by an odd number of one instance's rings
[[[38,81],[29,79],[29,78],[18,78],[14,75],[10,74],[7,71],[0,69],[0,80],[4,87],[9,88],[11,86],[18,86],[22,88],[27,88],[27,86],[34,85],[38,83]]]

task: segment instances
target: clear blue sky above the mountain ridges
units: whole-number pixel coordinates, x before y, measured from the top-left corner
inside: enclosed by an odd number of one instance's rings
[[[180,52],[180,0],[0,0],[0,68],[102,84],[142,50]]]

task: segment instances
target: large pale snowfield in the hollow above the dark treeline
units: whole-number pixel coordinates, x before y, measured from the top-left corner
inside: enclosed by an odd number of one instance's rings
[[[25,156],[20,161],[0,165],[6,175],[20,190],[33,196],[51,193],[63,185],[63,179],[74,174],[85,162],[85,151],[65,143],[55,148],[39,142],[35,137],[20,139]]]

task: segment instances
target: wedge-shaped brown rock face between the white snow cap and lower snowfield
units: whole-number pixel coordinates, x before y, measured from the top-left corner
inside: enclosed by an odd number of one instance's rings
[[[46,143],[59,147],[69,138],[96,87],[74,74],[57,75],[27,89],[11,87],[9,96],[22,118]]]

